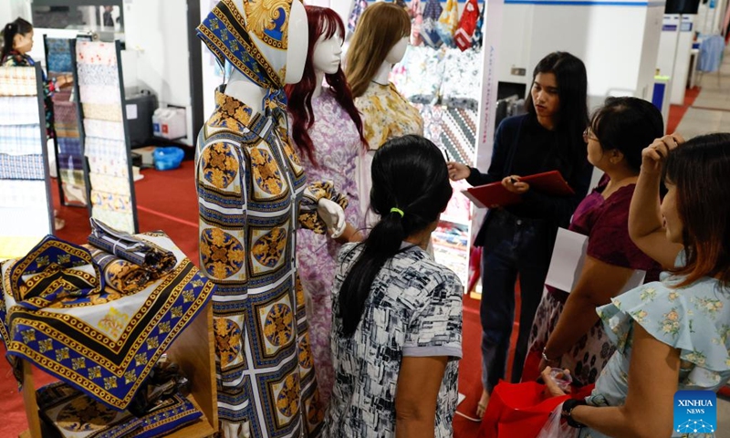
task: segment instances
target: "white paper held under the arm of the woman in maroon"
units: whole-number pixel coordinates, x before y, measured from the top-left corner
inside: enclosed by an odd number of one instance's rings
[[[555,239],[555,248],[550,267],[547,269],[545,284],[570,293],[578,283],[580,273],[583,271],[587,249],[587,235],[558,228],[558,237]],[[646,271],[635,270],[620,293],[640,287],[645,276]]]

